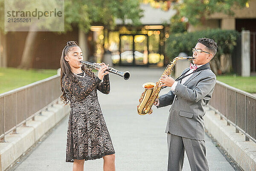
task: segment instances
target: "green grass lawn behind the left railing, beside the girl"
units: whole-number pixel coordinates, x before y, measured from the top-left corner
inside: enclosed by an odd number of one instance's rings
[[[0,93],[56,75],[57,70],[0,68]]]

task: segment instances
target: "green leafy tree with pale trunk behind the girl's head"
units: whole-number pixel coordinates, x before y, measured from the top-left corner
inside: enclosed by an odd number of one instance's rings
[[[140,9],[140,0],[79,0],[76,4],[73,0],[65,1],[65,27],[72,29],[72,24],[79,26],[84,32],[83,40],[87,40],[87,35],[91,25],[102,25],[107,30],[115,26],[115,19],[119,18],[123,24],[130,20],[133,25],[140,23],[143,10]],[[108,37],[108,36],[107,36]],[[79,42],[82,51],[87,51],[87,41]],[[84,49],[81,43],[84,43]],[[86,59],[87,53],[84,53]]]

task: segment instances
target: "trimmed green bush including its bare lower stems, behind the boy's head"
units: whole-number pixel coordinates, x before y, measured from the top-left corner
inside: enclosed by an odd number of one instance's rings
[[[166,41],[166,57],[172,60],[180,52],[192,56],[192,48],[195,47],[198,38],[211,38],[218,44],[218,50],[210,64],[216,74],[221,74],[230,71],[230,58],[238,37],[239,32],[236,30],[221,29],[171,34]]]

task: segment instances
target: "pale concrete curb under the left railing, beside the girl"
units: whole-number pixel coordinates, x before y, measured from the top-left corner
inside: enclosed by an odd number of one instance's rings
[[[17,134],[6,135],[6,142],[0,142],[0,171],[9,168],[16,159],[70,113],[70,106],[60,103],[61,101],[49,107],[42,112],[42,115],[35,116],[34,121],[27,121],[27,126],[18,127]]]

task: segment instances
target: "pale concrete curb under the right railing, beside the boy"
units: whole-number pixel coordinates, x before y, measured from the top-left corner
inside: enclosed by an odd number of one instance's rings
[[[236,128],[228,126],[213,110],[208,110],[204,116],[205,128],[218,141],[227,153],[244,171],[256,171],[256,144],[245,141],[242,133],[236,133]]]

